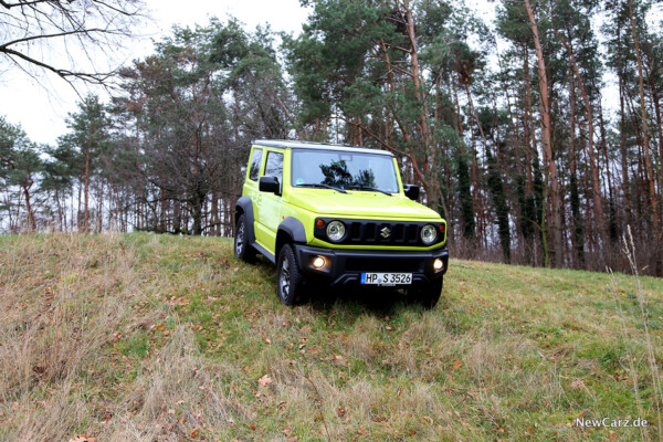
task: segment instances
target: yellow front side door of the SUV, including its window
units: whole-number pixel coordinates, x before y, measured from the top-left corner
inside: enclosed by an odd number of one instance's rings
[[[277,193],[261,192],[260,236],[262,245],[271,253],[276,249],[276,231],[281,223],[283,190],[283,150],[270,149],[266,151],[264,177],[275,177],[281,186]]]

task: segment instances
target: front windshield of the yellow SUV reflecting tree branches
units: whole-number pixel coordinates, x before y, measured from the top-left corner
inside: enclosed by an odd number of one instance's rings
[[[293,150],[292,185],[399,191],[392,157],[347,150]]]

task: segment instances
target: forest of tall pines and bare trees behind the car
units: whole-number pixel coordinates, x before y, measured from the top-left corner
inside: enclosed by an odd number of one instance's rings
[[[0,230],[231,236],[251,141],[299,139],[393,152],[456,257],[663,275],[661,1],[301,2],[173,28],[52,144],[0,116]]]

